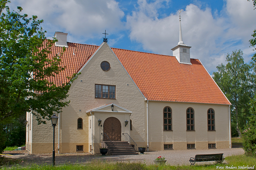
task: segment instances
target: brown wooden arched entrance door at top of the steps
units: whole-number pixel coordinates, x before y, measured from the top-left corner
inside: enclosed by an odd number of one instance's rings
[[[121,123],[115,117],[109,117],[104,121],[103,133],[106,133],[111,141],[121,141]],[[103,139],[106,141],[107,139]]]

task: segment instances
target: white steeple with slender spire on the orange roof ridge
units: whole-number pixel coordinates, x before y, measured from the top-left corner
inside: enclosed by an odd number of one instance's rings
[[[186,44],[183,43],[182,41],[182,32],[181,32],[181,19],[180,19],[180,12],[179,11],[179,42],[178,45],[171,50],[172,55],[176,57],[179,63],[184,63],[184,64],[191,64],[190,63],[190,46],[187,46]]]

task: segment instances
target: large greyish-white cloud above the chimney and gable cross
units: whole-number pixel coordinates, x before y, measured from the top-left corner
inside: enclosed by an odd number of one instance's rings
[[[105,29],[114,32],[124,28],[124,12],[114,0],[14,0],[9,4],[20,5],[29,16],[44,19],[47,30],[68,32],[69,40],[101,36]],[[52,37],[53,35],[49,35]],[[83,39],[84,40],[84,39]]]

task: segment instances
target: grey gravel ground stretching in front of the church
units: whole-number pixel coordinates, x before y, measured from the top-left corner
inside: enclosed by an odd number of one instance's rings
[[[8,153],[5,151],[4,154]],[[215,154],[224,153],[223,156],[231,155],[242,155],[244,150],[242,148],[232,148],[232,149],[211,149],[211,150],[161,150],[161,151],[149,151],[145,154],[138,155],[115,155],[115,156],[101,156],[101,154],[90,154],[90,153],[64,153],[55,154],[55,165],[60,164],[75,164],[75,163],[87,163],[93,160],[105,160],[107,162],[142,162],[146,164],[153,164],[153,160],[159,156],[164,157],[170,165],[190,165],[188,161],[191,157],[194,158],[196,154]],[[52,154],[27,154],[25,155],[13,155],[8,156],[8,158],[15,158],[23,160],[20,165],[28,165],[30,163],[36,164],[52,164]],[[198,162],[199,164],[213,164],[215,162]],[[225,161],[224,161],[225,163]]]

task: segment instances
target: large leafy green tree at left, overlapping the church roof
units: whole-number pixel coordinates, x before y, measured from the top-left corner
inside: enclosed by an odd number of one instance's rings
[[[46,40],[46,31],[39,27],[43,20],[22,15],[21,7],[11,12],[6,6],[9,2],[0,0],[0,124],[11,123],[25,112],[36,116],[38,124],[46,123],[45,119],[68,105],[69,101],[62,100],[77,75],[59,86],[47,79],[65,69],[61,57],[48,58],[57,40]]]

